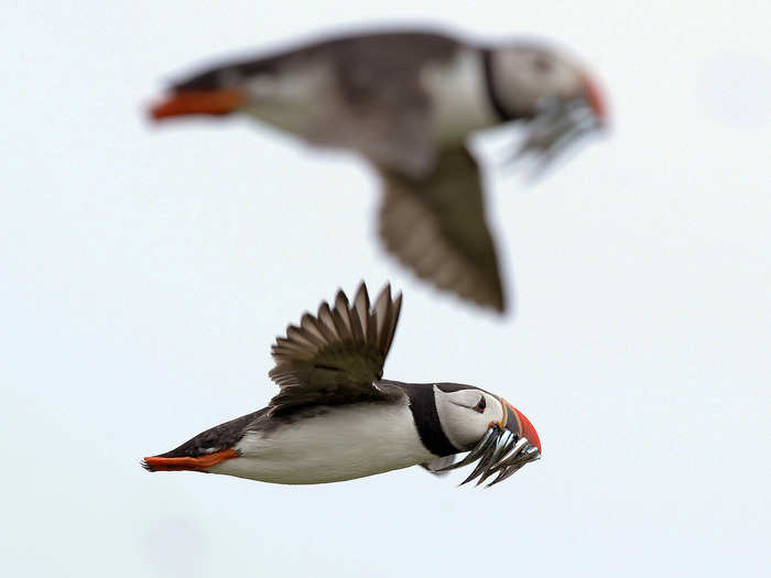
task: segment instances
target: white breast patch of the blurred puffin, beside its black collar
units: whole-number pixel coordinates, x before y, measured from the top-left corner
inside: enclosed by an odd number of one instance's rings
[[[463,142],[470,131],[498,123],[479,51],[463,48],[448,63],[426,66],[421,81],[432,99],[438,142]]]

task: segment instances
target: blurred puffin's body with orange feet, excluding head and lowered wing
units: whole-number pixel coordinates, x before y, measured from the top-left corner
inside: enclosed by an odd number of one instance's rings
[[[195,75],[175,84],[153,114],[237,110],[422,177],[438,149],[501,121],[485,83],[480,50],[449,36],[345,36]]]

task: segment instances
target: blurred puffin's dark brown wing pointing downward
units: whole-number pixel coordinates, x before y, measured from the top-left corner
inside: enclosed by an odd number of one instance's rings
[[[424,179],[382,167],[380,174],[386,183],[380,236],[388,250],[437,287],[502,312],[498,258],[470,153],[442,151],[436,171]]]

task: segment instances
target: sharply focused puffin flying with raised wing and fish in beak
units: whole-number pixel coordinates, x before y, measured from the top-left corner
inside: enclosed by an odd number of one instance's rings
[[[338,291],[272,346],[267,407],[198,434],[142,466],[284,484],[338,482],[422,466],[474,465],[461,482],[499,483],[541,457],[530,421],[500,395],[459,383],[386,380],[402,295],[387,284],[373,304],[362,282]],[[461,459],[458,456],[466,454]]]

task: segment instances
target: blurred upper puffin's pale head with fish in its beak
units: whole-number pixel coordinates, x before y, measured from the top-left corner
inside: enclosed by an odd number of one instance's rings
[[[489,77],[500,108],[528,123],[518,156],[551,161],[578,137],[607,124],[607,108],[586,69],[558,52],[534,44],[489,51]]]

